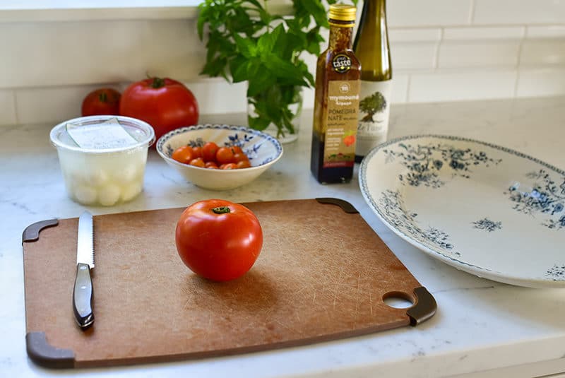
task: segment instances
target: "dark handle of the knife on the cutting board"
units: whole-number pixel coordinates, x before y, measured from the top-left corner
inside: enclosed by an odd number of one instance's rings
[[[78,326],[85,329],[94,323],[93,280],[88,264],[76,264],[75,288],[73,290],[73,311]]]

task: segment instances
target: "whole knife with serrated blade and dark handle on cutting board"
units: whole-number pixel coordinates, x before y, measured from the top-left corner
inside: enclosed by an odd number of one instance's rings
[[[73,312],[82,329],[94,323],[93,281],[90,270],[94,268],[93,215],[85,211],[78,218],[76,245],[76,278],[73,289]]]

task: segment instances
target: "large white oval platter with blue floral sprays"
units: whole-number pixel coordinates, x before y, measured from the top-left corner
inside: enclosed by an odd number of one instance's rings
[[[388,228],[446,264],[565,288],[565,170],[492,143],[416,135],[371,150],[359,187]]]

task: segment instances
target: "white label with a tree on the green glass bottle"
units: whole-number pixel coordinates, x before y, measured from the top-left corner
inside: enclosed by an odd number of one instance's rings
[[[371,148],[386,141],[391,91],[392,80],[361,81],[356,155],[367,155]]]

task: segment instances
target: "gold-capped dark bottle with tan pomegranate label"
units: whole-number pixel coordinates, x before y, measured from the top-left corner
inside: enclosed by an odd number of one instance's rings
[[[316,64],[310,169],[321,183],[353,176],[361,79],[352,49],[355,16],[355,6],[330,6],[329,45]]]

